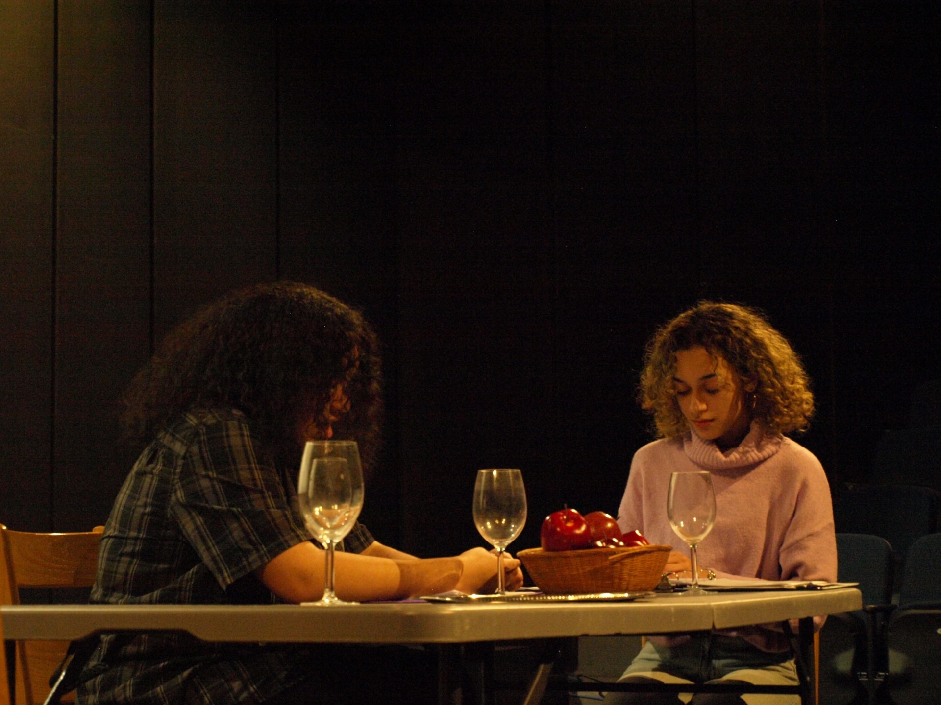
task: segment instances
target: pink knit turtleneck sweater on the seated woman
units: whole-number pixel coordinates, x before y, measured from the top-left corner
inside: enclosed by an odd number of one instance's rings
[[[667,488],[671,473],[702,470],[712,476],[716,520],[697,549],[700,567],[722,577],[837,580],[833,504],[820,461],[754,422],[726,453],[690,432],[638,450],[618,510],[621,530],[640,529],[651,543],[688,553],[666,516]],[[786,648],[780,635],[755,631],[737,634],[764,650]]]

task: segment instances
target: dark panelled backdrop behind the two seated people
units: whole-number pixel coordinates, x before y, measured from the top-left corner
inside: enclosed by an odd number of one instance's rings
[[[801,442],[869,477],[941,377],[933,2],[0,2],[0,521],[104,522],[155,340],[277,277],[358,305],[389,423],[365,521],[479,543],[614,512],[646,338],[699,297],[805,358]],[[904,479],[904,478],[900,478]]]

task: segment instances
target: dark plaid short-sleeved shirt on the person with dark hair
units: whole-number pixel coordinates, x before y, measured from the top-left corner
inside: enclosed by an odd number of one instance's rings
[[[195,411],[137,459],[104,527],[93,603],[275,603],[252,572],[310,540],[294,478],[255,456],[240,412]],[[341,549],[373,542],[356,525]],[[103,635],[79,703],[247,703],[310,675],[305,645]]]

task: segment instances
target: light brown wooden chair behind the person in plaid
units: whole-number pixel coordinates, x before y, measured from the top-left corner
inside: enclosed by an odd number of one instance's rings
[[[19,604],[24,587],[91,587],[103,530],[96,526],[88,532],[40,534],[10,531],[0,524],[0,603]],[[16,642],[15,705],[38,705],[45,699],[49,677],[68,647],[61,641]]]

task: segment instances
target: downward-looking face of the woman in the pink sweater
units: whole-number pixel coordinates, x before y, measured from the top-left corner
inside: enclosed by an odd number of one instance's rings
[[[677,352],[674,391],[690,429],[720,450],[738,446],[748,433],[742,380],[720,355],[702,347]]]

